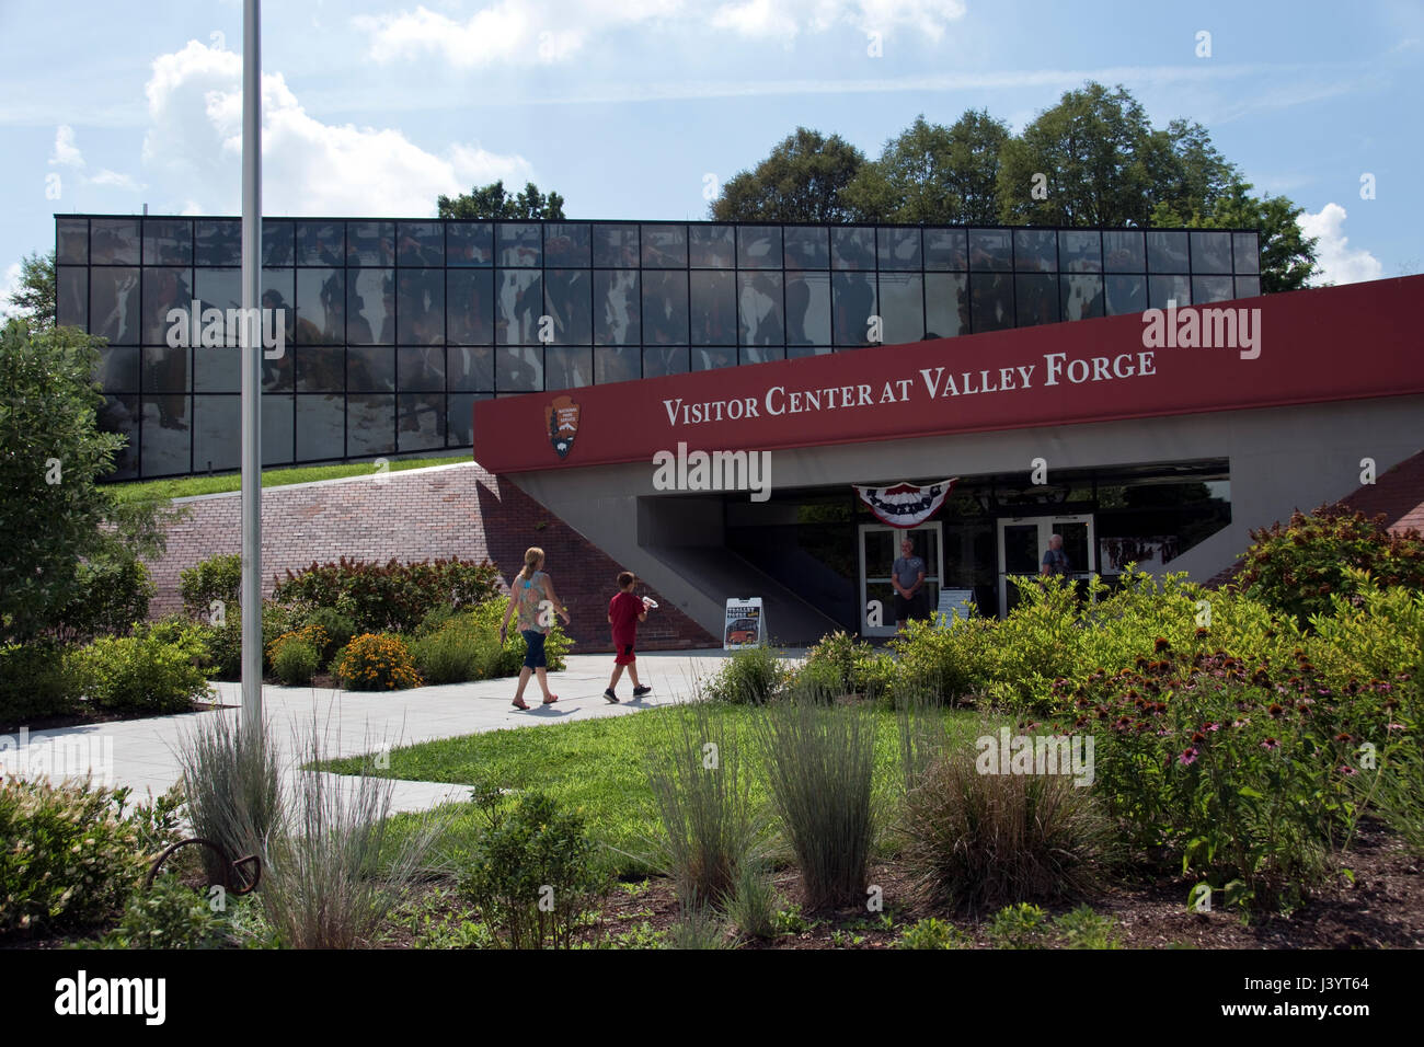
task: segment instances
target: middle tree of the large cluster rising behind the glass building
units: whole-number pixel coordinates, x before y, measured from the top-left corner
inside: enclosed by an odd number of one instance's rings
[[[953,127],[914,124],[860,168],[846,199],[867,222],[983,225],[998,219],[998,155],[1008,125],[968,110]]]

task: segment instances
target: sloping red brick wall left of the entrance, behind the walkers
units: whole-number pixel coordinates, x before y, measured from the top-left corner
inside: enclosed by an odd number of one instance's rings
[[[184,503],[189,519],[168,530],[168,551],[151,563],[158,587],[152,617],[182,608],[179,573],[199,560],[241,551],[241,496],[218,494]],[[578,652],[611,651],[608,601],[622,570],[602,550],[508,480],[474,463],[420,469],[336,483],[271,487],[262,491],[263,595],[278,577],[313,560],[488,560],[506,583],[540,546],[554,593],[568,605],[567,627]],[[648,651],[716,647],[706,630],[639,587],[661,607],[638,627]]]

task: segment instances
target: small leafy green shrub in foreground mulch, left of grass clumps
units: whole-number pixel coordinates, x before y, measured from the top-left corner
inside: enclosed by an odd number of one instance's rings
[[[584,818],[534,792],[508,812],[488,806],[486,819],[460,892],[507,947],[568,949],[608,889]]]

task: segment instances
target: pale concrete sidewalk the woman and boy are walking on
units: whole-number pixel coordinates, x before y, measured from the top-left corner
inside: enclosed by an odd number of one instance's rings
[[[612,671],[612,655],[570,655],[562,672],[550,674],[554,705],[541,707],[538,684],[530,679],[523,712],[510,705],[513,679],[484,679],[473,684],[422,687],[413,691],[335,691],[313,687],[263,687],[262,707],[271,738],[290,764],[302,738],[313,728],[322,732],[323,752],[330,758],[359,756],[436,738],[500,731],[506,728],[570,724],[595,717],[627,717],[641,709],[686,701],[698,679],[711,677],[729,657],[722,651],[652,651],[638,655],[638,674],[652,694],[632,702],[627,674],[619,681],[618,705],[604,701]],[[178,782],[177,749],[181,738],[204,717],[241,718],[239,684],[214,684],[225,708],[212,712],[179,714],[88,724],[47,731],[0,735],[0,772],[24,778],[46,776],[58,782],[91,772],[95,783],[127,785],[134,798],[161,795]],[[396,811],[424,811],[446,802],[463,802],[470,791],[444,782],[394,783]]]

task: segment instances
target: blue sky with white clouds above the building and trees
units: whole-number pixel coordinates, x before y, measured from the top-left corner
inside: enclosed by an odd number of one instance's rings
[[[54,212],[238,212],[241,40],[238,0],[0,0],[0,293]],[[504,178],[571,218],[698,219],[797,124],[874,157],[921,113],[1017,131],[1099,80],[1304,207],[1326,279],[1398,276],[1424,271],[1421,41],[1418,0],[268,3],[265,211],[429,217]]]

